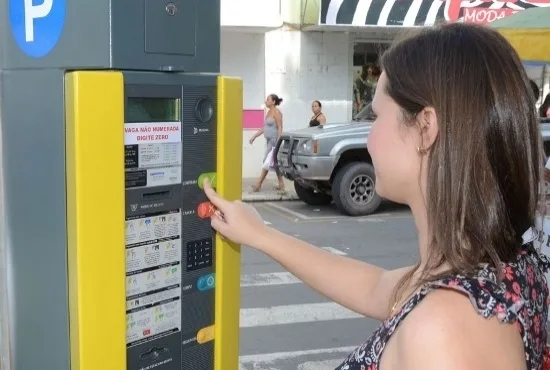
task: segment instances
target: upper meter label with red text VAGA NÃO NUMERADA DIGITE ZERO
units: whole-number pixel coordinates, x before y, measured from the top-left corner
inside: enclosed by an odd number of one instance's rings
[[[126,188],[180,184],[181,122],[124,125]]]

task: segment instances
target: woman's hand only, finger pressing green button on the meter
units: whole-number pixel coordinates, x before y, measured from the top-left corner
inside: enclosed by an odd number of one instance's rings
[[[234,243],[255,247],[267,227],[254,207],[241,201],[223,199],[212,189],[210,181],[204,180],[204,192],[218,211],[212,216],[212,227]]]

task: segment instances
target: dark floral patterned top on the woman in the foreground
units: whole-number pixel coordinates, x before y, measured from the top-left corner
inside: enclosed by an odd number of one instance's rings
[[[399,324],[426,295],[438,288],[467,294],[477,312],[496,316],[502,323],[517,322],[523,337],[528,370],[550,370],[546,346],[548,285],[544,272],[550,267],[532,243],[522,247],[517,260],[503,264],[501,283],[495,268],[485,264],[473,276],[455,275],[423,286],[393,316],[386,319],[370,339],[352,352],[336,370],[378,370],[386,343]],[[544,367],[543,367],[544,365]]]

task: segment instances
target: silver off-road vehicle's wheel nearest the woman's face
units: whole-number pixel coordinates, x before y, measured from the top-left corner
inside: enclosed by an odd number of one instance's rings
[[[374,167],[370,163],[348,163],[338,170],[332,181],[334,204],[349,216],[374,213],[382,202],[375,191],[375,181]]]

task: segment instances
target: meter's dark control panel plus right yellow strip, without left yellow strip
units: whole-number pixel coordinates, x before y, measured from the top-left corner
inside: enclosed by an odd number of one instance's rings
[[[232,369],[240,257],[202,183],[241,196],[241,82],[123,74],[127,368]]]

